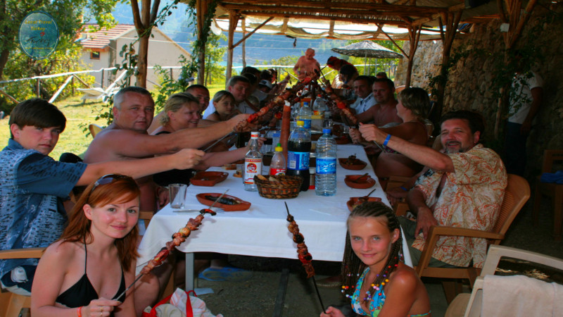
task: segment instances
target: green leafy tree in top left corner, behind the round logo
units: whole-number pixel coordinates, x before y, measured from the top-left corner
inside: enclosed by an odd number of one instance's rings
[[[89,10],[100,26],[111,25],[112,9],[118,0],[1,0],[0,1],[0,80],[6,63],[18,51],[18,30],[27,13],[45,11],[53,16],[60,34],[57,50],[67,49],[82,29],[84,9]]]

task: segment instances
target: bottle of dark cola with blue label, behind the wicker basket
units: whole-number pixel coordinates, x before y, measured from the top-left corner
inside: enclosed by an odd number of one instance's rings
[[[303,128],[303,121],[297,121],[297,127],[289,135],[287,142],[287,175],[303,178],[301,192],[309,189],[309,152],[311,151],[311,135]]]

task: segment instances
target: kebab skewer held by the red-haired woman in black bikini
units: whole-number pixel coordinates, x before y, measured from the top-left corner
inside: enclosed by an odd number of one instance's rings
[[[135,285],[135,283],[139,281],[143,277],[143,275],[147,275],[148,273],[151,273],[151,271],[153,271],[153,268],[162,265],[162,263],[167,259],[168,254],[170,254],[171,251],[176,249],[176,247],[182,244],[182,242],[186,241],[186,237],[188,237],[192,231],[198,230],[198,227],[201,225],[201,220],[205,218],[205,216],[203,216],[205,215],[205,213],[209,213],[211,216],[215,216],[217,213],[212,210],[213,206],[215,206],[215,203],[217,203],[217,201],[219,201],[224,196],[224,194],[227,194],[228,191],[229,189],[225,190],[224,193],[222,193],[221,196],[217,198],[217,200],[214,201],[213,204],[211,204],[211,206],[209,206],[209,208],[201,209],[199,211],[199,215],[195,219],[189,218],[188,223],[186,223],[184,228],[181,228],[180,230],[178,230],[178,232],[175,232],[172,235],[172,240],[166,242],[166,247],[160,249],[160,251],[158,251],[156,256],[154,256],[153,259],[151,259],[151,261],[148,261],[148,263],[146,263],[144,268],[141,269],[141,273],[139,273],[139,275],[137,276],[137,278],[135,278],[135,280],[131,283],[131,285],[129,285],[121,294],[116,296],[114,300],[118,300],[125,293],[127,293],[127,291],[131,287],[133,287],[133,285]]]

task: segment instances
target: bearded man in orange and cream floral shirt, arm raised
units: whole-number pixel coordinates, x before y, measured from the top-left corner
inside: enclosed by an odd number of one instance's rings
[[[507,186],[507,174],[500,157],[479,143],[483,118],[471,111],[452,111],[441,120],[443,153],[429,147],[387,135],[375,125],[362,125],[360,132],[368,141],[384,144],[429,168],[407,202],[416,222],[401,219],[410,254],[416,265],[432,225],[491,230]],[[440,237],[431,266],[483,266],[486,241],[469,237]]]

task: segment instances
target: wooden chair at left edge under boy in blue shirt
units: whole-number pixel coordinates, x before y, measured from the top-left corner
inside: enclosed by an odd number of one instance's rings
[[[1,250],[0,259],[39,259],[45,248],[28,248],[28,249],[13,249]],[[0,316],[1,317],[18,317],[20,311],[25,308],[31,307],[31,297],[12,292],[3,291],[0,293]]]

